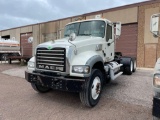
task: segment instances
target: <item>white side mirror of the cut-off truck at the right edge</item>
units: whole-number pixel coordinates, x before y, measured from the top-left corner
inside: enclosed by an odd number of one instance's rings
[[[154,37],[159,35],[159,15],[152,15],[150,20],[150,31]]]

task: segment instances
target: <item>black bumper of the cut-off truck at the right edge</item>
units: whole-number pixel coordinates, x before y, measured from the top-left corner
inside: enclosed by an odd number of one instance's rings
[[[152,115],[160,118],[160,98],[153,98],[153,110]]]

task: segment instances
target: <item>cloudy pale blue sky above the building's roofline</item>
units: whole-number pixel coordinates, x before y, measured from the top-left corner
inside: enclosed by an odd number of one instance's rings
[[[0,0],[0,30],[146,0]]]

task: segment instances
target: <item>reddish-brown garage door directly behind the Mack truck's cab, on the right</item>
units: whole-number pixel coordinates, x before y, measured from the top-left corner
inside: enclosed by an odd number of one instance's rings
[[[123,56],[137,57],[138,25],[122,25],[120,39],[116,41],[116,52],[122,52]]]

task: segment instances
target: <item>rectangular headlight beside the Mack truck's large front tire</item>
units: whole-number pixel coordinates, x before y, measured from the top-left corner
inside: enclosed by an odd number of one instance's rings
[[[89,66],[73,66],[72,67],[72,72],[87,74],[87,73],[90,72],[90,67]]]

